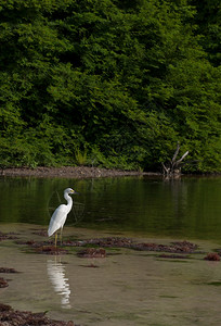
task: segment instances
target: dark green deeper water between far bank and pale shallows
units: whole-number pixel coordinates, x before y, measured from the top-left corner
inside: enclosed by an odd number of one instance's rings
[[[67,225],[220,242],[221,177],[1,178],[0,221],[48,225],[67,187],[80,192]]]

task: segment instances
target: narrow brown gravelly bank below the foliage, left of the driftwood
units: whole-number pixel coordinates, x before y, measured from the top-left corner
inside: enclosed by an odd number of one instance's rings
[[[8,167],[2,170],[2,176],[34,176],[34,177],[62,177],[62,178],[94,178],[119,176],[162,176],[161,173],[108,170],[90,166],[63,166],[63,167]]]

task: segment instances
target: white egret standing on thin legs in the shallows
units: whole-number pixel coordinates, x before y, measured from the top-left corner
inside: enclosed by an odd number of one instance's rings
[[[73,208],[73,199],[69,195],[77,193],[72,188],[67,188],[64,190],[64,198],[67,201],[67,204],[61,204],[51,216],[51,221],[49,224],[48,235],[51,237],[55,233],[55,247],[57,240],[57,230],[61,229],[60,241],[62,243],[62,230],[67,218],[67,214]]]

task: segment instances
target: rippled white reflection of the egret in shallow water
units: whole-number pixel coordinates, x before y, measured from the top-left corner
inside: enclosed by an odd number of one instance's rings
[[[54,261],[49,260],[47,263],[48,276],[51,280],[54,291],[62,296],[61,306],[65,309],[70,309],[69,296],[70,289],[68,284],[68,278],[65,277],[65,266],[61,261],[57,261],[55,258]]]

